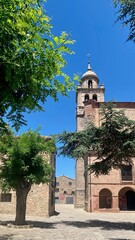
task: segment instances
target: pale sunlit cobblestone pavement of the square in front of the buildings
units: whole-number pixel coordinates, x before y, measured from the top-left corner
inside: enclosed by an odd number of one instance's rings
[[[135,240],[135,213],[87,213],[56,205],[58,215],[28,217],[33,228],[9,228],[14,216],[0,214],[0,240]]]

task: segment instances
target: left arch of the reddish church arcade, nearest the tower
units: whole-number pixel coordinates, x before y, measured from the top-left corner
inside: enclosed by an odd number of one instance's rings
[[[112,193],[107,188],[99,192],[99,208],[112,208]]]

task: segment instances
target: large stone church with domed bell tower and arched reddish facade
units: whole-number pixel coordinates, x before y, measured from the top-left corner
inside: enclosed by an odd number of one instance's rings
[[[104,85],[92,71],[90,63],[83,74],[76,93],[77,131],[85,128],[89,121],[100,126],[100,107],[104,101]],[[124,110],[125,115],[135,120],[135,102],[115,102],[116,109]],[[75,207],[94,211],[135,210],[135,167],[123,166],[121,170],[112,170],[109,175],[95,177],[85,172],[86,164],[94,161],[95,156],[76,160]]]

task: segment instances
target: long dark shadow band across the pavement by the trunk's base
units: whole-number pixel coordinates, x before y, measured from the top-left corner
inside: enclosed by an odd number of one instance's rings
[[[13,224],[14,221],[0,221],[0,225],[7,226]],[[135,231],[135,223],[131,222],[109,222],[104,220],[87,220],[87,221],[27,221],[27,224],[35,228],[55,229],[58,224],[72,226],[76,228],[100,228],[102,230],[132,230]],[[27,225],[24,226],[27,228]],[[1,238],[0,238],[1,240]],[[3,239],[2,239],[3,240]],[[111,239],[113,240],[113,238]],[[120,240],[120,239],[119,239]]]

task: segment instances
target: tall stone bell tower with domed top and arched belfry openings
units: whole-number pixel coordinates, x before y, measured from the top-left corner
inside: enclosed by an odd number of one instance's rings
[[[88,121],[94,122],[95,112],[89,105],[89,118],[85,117],[87,102],[104,102],[104,85],[99,84],[99,79],[94,71],[92,71],[90,62],[88,61],[87,71],[83,74],[80,85],[76,91],[76,130],[81,131],[86,127]],[[90,109],[91,108],[91,109]],[[76,195],[75,207],[85,207],[85,160],[79,158],[76,160]],[[86,160],[87,161],[87,160]]]

